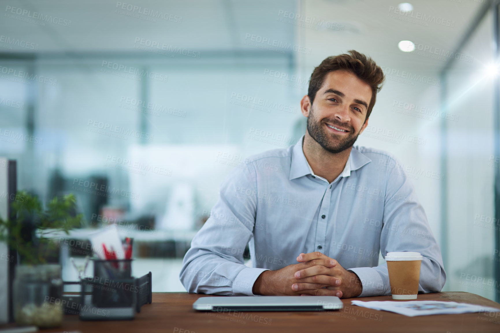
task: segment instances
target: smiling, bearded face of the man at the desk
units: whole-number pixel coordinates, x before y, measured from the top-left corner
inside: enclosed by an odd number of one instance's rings
[[[352,147],[368,124],[365,118],[370,99],[370,86],[354,74],[345,70],[329,72],[312,105],[307,95],[302,98],[307,132],[331,153]]]

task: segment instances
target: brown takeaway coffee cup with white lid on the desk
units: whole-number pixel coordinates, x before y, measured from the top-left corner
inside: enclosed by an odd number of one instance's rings
[[[418,252],[387,253],[385,261],[393,300],[416,299],[422,258]]]

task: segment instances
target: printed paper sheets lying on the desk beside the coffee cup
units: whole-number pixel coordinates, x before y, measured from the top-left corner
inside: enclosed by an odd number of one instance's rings
[[[408,317],[425,315],[464,314],[468,312],[500,312],[500,309],[475,304],[441,301],[351,301],[353,305],[373,310],[395,312]]]

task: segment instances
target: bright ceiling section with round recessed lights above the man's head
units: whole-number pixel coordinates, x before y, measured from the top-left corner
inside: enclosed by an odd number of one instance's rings
[[[411,68],[439,72],[445,62],[405,53],[398,49],[400,40],[411,40],[433,48],[454,51],[473,18],[485,4],[461,0],[413,0],[414,15],[417,12],[454,21],[454,27],[429,23],[422,26],[388,17],[389,7],[397,7],[399,1],[391,0],[313,0],[303,1],[302,11],[307,15],[335,20],[345,25],[345,31],[302,31],[304,40],[312,52],[307,60],[319,63],[326,55],[356,49],[374,59],[383,59],[390,68]],[[392,12],[391,14],[394,15]],[[400,16],[395,14],[396,16]],[[401,16],[402,17],[402,16]],[[323,47],[328,45],[328,47]],[[428,53],[428,52],[427,52]]]

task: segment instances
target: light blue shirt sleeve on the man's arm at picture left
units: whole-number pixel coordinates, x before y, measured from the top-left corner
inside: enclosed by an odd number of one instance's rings
[[[253,296],[252,287],[266,269],[244,265],[256,214],[255,172],[241,163],[220,186],[210,217],[182,261],[180,281],[190,293]],[[244,196],[238,193],[244,193]],[[243,198],[243,199],[241,199]]]

